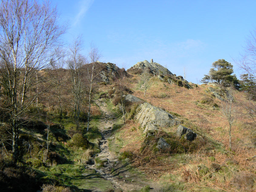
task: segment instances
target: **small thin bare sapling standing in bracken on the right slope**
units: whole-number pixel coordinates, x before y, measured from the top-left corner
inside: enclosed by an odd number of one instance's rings
[[[235,118],[236,118],[236,108],[233,103],[233,96],[232,96],[231,88],[230,88],[230,93],[228,94],[227,100],[224,102],[224,104],[222,104],[222,111],[228,120],[229,148],[231,150],[231,128],[232,128],[232,126],[235,122]]]

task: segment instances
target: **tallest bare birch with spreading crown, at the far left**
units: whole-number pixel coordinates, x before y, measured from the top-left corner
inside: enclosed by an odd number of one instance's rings
[[[40,94],[27,97],[29,88],[38,84],[28,82],[35,77],[35,72],[49,64],[66,28],[58,24],[58,12],[47,1],[2,0],[0,4],[0,78],[8,102],[16,162],[19,125],[23,114]]]

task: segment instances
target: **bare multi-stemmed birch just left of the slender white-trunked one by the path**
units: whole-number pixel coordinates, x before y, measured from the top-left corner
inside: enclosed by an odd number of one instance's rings
[[[76,129],[79,128],[79,118],[81,113],[81,103],[83,99],[83,83],[81,78],[81,66],[85,64],[85,57],[80,54],[81,38],[75,39],[73,45],[69,49],[69,58],[67,61],[68,68],[71,73],[71,86],[73,94],[74,119]]]

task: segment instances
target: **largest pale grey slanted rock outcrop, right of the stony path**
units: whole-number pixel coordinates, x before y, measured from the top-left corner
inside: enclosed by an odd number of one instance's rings
[[[155,133],[158,127],[171,127],[181,122],[174,115],[152,106],[149,103],[140,104],[140,110],[135,116],[141,127],[145,126],[144,133]]]

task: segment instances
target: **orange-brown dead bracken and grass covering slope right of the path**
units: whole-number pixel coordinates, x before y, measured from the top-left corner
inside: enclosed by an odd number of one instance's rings
[[[232,128],[230,151],[222,101],[215,98],[208,85],[187,89],[151,78],[151,86],[143,97],[138,81],[138,76],[128,79],[126,86],[133,95],[176,115],[198,137],[192,142],[178,140],[173,137],[176,127],[163,128],[156,138],[170,139],[176,145],[171,152],[158,152],[153,144],[145,144],[143,128],[134,120],[127,121],[116,131],[112,142],[120,145],[119,152],[130,159],[132,166],[151,179],[169,182],[177,190],[256,190],[255,121],[244,108],[253,101],[248,101],[243,92],[233,91],[237,118]],[[112,87],[104,87],[103,91],[107,91],[106,88]],[[224,88],[218,89],[225,94]]]

